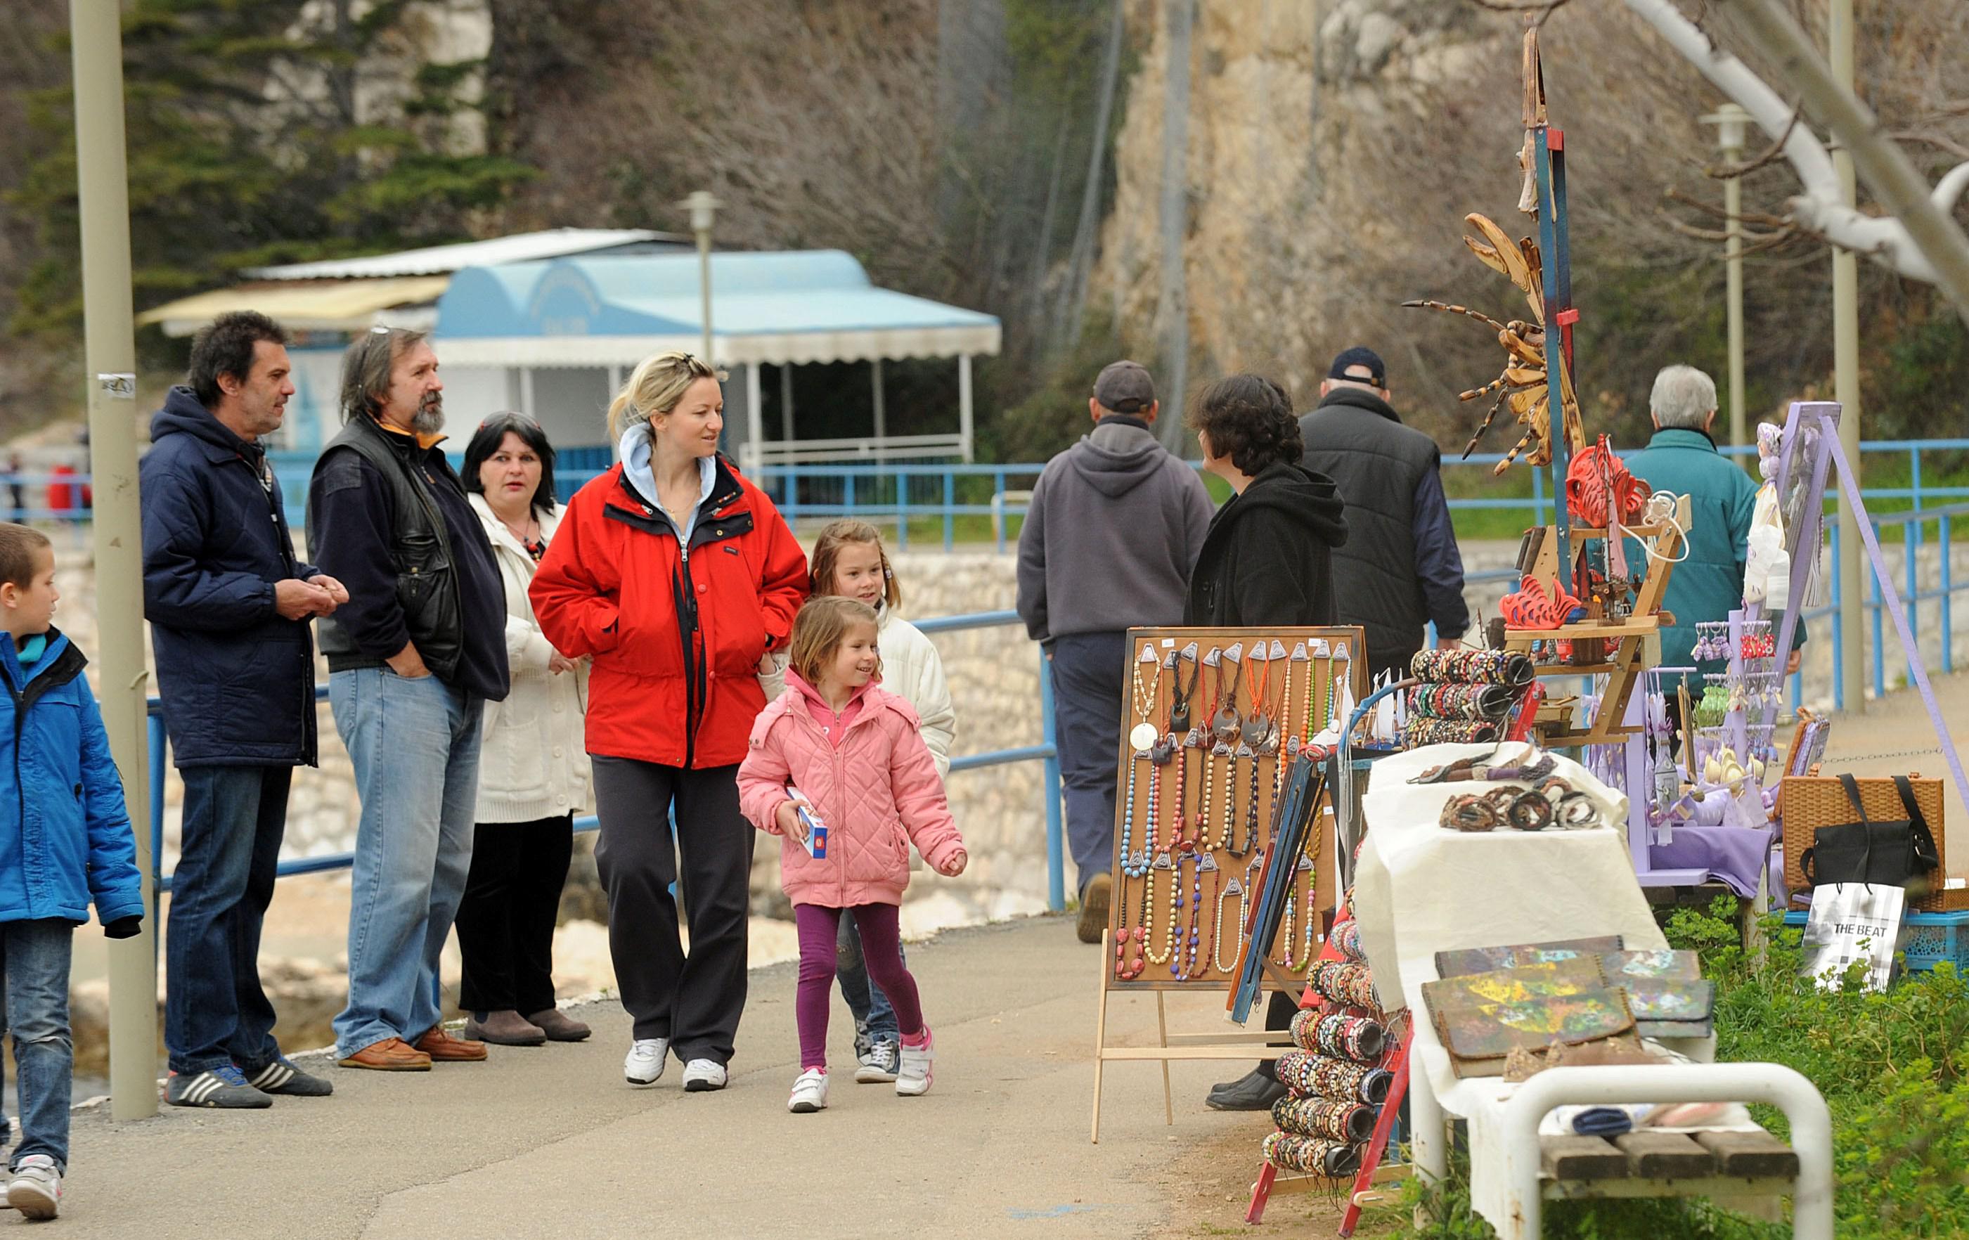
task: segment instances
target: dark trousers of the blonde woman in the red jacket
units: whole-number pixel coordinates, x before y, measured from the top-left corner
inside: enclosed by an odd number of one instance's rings
[[[744,1014],[758,835],[738,813],[738,768],[693,772],[595,758],[595,813],[601,819],[595,868],[608,896],[608,957],[634,1035],[667,1037],[681,1061],[729,1063]],[[669,894],[679,854],[689,955],[677,939],[677,899]]]

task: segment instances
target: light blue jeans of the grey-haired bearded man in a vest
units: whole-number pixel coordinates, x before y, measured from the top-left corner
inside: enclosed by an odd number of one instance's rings
[[[343,1057],[437,1020],[437,957],[465,894],[478,805],[484,699],[388,667],[329,675],[335,730],[356,772],[362,819],[349,903]]]

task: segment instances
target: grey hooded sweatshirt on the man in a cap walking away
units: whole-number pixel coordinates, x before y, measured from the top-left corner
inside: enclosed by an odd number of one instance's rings
[[[1036,642],[1175,624],[1211,492],[1146,423],[1111,413],[1046,463],[1018,533],[1018,616]]]

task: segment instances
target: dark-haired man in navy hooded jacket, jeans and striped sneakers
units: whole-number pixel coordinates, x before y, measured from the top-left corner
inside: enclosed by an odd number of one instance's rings
[[[315,766],[307,624],[349,592],[301,563],[262,435],[293,396],[287,333],[221,315],[191,344],[185,386],[152,419],[140,470],[144,616],[171,756],[185,781],[165,935],[163,1043],[177,1106],[270,1106],[327,1094],[274,1041],[260,923],[274,899],[287,783]]]

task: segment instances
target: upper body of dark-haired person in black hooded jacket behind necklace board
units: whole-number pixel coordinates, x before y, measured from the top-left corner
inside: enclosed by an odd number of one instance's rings
[[[1258,374],[1217,380],[1189,409],[1203,468],[1237,492],[1211,518],[1183,624],[1335,624],[1333,547],[1347,516],[1333,478],[1300,465],[1292,398]]]

